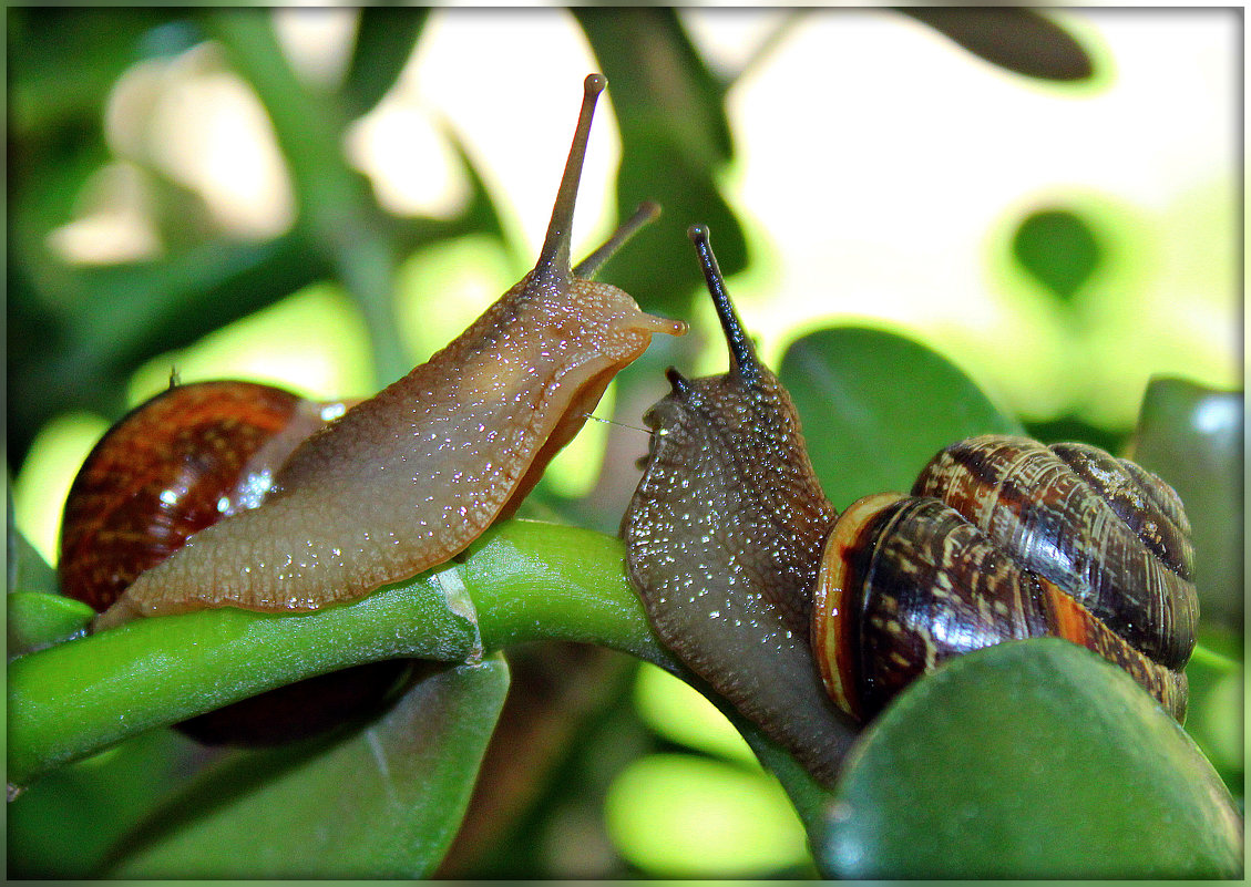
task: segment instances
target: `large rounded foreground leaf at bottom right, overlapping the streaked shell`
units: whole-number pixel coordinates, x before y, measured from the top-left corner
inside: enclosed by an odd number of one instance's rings
[[[847,878],[1237,877],[1242,821],[1190,737],[1068,642],[1003,643],[897,697],[818,864]]]

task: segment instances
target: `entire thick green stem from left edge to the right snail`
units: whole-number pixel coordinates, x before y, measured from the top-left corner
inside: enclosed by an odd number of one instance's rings
[[[24,786],[140,731],[374,659],[473,662],[562,639],[674,671],[622,557],[600,533],[510,520],[459,562],[317,613],[138,619],[31,653],[9,666],[9,781]]]

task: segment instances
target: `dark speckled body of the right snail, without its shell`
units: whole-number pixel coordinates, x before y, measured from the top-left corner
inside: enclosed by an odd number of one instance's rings
[[[694,229],[731,348],[724,375],[688,380],[644,417],[656,429],[622,523],[627,569],[657,636],[696,674],[832,782],[852,732],[821,688],[809,589],[834,509],[798,418],[756,358]]]

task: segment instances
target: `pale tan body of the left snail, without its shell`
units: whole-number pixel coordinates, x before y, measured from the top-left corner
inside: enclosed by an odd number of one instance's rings
[[[204,529],[140,575],[96,629],[206,607],[314,611],[443,563],[517,508],[652,334],[686,332],[569,268],[604,85],[587,78],[534,270],[428,363],[305,440],[260,508]]]

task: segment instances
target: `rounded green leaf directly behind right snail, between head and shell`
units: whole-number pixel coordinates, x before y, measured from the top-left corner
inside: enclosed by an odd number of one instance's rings
[[[808,455],[839,510],[869,493],[907,492],[947,444],[1021,434],[958,367],[896,333],[834,327],[798,339],[778,378],[803,419]]]

